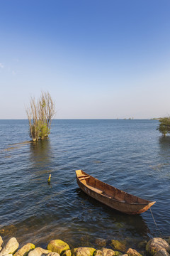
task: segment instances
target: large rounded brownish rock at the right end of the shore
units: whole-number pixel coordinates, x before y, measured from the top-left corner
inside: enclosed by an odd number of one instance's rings
[[[162,238],[152,238],[147,242],[146,251],[149,255],[155,255],[155,253],[162,249],[168,253],[170,252],[170,245]]]

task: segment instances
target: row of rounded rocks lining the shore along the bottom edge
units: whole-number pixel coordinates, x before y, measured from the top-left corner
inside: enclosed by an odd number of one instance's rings
[[[103,247],[101,250],[93,247],[77,247],[70,248],[69,245],[62,240],[52,240],[47,245],[47,250],[41,247],[35,247],[32,243],[28,243],[18,250],[18,241],[11,238],[3,247],[3,240],[0,236],[0,256],[142,256],[136,250],[125,247],[123,242],[111,240],[113,250]],[[162,238],[153,238],[146,245],[144,254],[151,256],[170,256],[169,240]]]

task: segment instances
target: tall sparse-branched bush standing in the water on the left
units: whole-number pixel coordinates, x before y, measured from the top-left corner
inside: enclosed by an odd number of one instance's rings
[[[30,107],[26,110],[33,142],[44,139],[50,134],[52,117],[55,115],[55,103],[49,92],[42,92],[40,99],[30,98]]]

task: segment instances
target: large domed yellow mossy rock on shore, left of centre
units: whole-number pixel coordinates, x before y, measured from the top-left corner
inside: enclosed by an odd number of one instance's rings
[[[57,252],[60,255],[62,252],[69,250],[70,247],[66,242],[63,242],[62,240],[52,240],[47,245],[47,250],[50,250],[52,252]]]

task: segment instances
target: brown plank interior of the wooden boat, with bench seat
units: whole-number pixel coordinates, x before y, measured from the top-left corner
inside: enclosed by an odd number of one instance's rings
[[[106,196],[107,198],[120,201],[121,203],[149,203],[149,201],[145,199],[133,196],[125,191],[121,191],[118,188],[108,185],[107,183],[99,181],[84,173],[84,171],[77,170],[77,178],[79,178],[79,181],[81,181],[84,186],[91,189],[91,191]]]

